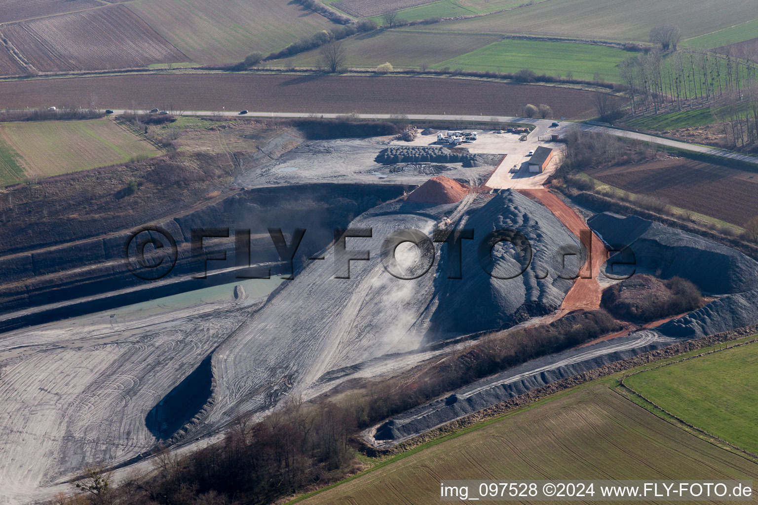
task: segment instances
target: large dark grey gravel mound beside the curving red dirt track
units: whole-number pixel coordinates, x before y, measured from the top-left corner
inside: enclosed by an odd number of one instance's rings
[[[576,247],[575,236],[536,201],[506,190],[478,209],[469,210],[456,229],[472,229],[474,238],[462,241],[462,279],[447,278],[450,262],[443,254],[440,276],[435,282],[438,305],[431,315],[431,329],[440,336],[506,328],[531,316],[550,313],[571,288],[572,281],[558,277],[558,253],[564,247]],[[522,249],[521,254],[508,242],[496,245],[492,252],[496,266],[494,276],[490,276],[479,257],[481,243],[490,232],[509,229],[523,234],[521,238],[512,237]],[[524,240],[531,246],[531,263]],[[572,259],[576,256],[566,257],[569,267]],[[516,275],[524,268],[522,275]],[[546,279],[537,279],[546,272]],[[514,278],[496,278],[510,276]]]

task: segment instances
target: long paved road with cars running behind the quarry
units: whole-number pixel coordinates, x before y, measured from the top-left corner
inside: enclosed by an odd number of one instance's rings
[[[129,111],[116,110],[115,114],[125,114]],[[238,116],[238,111],[183,111],[184,116]],[[337,117],[343,114],[305,114],[300,112],[249,112],[246,117]],[[366,119],[390,119],[391,114],[361,114],[361,117]],[[482,121],[484,123],[490,122],[495,117],[501,123],[530,123],[542,127],[550,127],[553,120],[543,119],[529,119],[527,117],[509,117],[509,116],[453,116],[446,114],[408,114],[410,120],[458,120],[458,121]],[[560,122],[561,129],[559,131],[565,131],[571,125],[578,125],[581,129],[587,132],[603,132],[609,133],[619,137],[627,137],[629,139],[637,139],[644,142],[652,142],[653,144],[666,145],[673,148],[684,149],[685,151],[693,151],[702,154],[710,154],[718,157],[725,157],[731,160],[744,161],[758,165],[758,157],[747,156],[747,154],[739,154],[733,151],[726,151],[725,149],[710,148],[703,145],[689,144],[688,142],[679,142],[678,140],[662,139],[652,135],[646,135],[639,132],[630,132],[625,129],[609,128],[607,126],[597,126],[585,123],[570,123]]]

